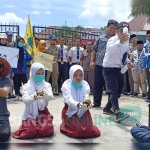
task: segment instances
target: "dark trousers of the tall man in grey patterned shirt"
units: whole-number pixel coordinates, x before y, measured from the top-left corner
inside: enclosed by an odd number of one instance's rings
[[[101,106],[102,94],[105,84],[102,71],[103,67],[96,65],[94,73],[94,88],[93,88],[95,106]]]

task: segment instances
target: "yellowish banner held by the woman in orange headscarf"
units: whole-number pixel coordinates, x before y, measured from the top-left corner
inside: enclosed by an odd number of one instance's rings
[[[38,52],[36,55],[34,55],[32,63],[39,62],[44,65],[45,70],[52,70],[53,59],[54,59],[53,55]]]

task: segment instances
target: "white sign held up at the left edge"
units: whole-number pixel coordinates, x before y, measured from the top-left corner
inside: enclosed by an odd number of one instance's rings
[[[0,46],[0,57],[6,59],[12,68],[17,68],[19,49],[7,46]]]

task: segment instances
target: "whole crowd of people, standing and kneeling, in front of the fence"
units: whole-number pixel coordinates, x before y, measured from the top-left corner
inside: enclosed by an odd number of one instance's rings
[[[26,106],[22,124],[12,135],[17,139],[54,134],[53,115],[47,106],[48,101],[60,93],[65,103],[60,131],[74,138],[100,136],[89,109],[101,106],[104,90],[108,102],[103,113],[116,115],[116,123],[130,117],[120,112],[118,99],[121,94],[137,97],[142,91],[142,98],[150,101],[150,90],[147,91],[150,84],[150,31],[146,34],[148,43],[144,44],[135,34],[129,36],[125,33],[125,28],[130,31],[127,22],[109,20],[107,32],[100,35],[95,43],[87,40],[83,46],[80,38],[75,41],[68,39],[65,43],[64,36],[57,39],[50,35],[49,45],[35,38],[38,52],[54,56],[51,70],[45,70],[40,62],[32,63],[34,54],[28,54],[22,37],[13,42],[12,32],[0,34],[0,46],[19,49],[17,68],[11,68],[0,57],[0,141],[10,136],[7,102],[11,98],[19,100],[22,97]],[[89,95],[93,95],[93,105],[87,104]]]

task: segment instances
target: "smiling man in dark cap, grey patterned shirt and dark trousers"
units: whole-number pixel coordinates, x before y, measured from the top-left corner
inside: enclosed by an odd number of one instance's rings
[[[107,33],[100,35],[92,46],[90,68],[94,69],[94,105],[93,107],[100,107],[103,89],[105,85],[103,77],[103,59],[106,52],[106,44],[109,38],[116,34],[118,22],[115,20],[109,20],[107,23]],[[104,110],[106,113],[111,113],[110,110]]]

